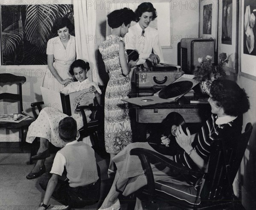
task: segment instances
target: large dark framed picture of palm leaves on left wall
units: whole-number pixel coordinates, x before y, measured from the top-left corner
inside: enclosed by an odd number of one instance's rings
[[[51,33],[54,20],[68,17],[74,23],[70,4],[2,5],[0,10],[3,66],[47,64],[47,41],[57,36]]]

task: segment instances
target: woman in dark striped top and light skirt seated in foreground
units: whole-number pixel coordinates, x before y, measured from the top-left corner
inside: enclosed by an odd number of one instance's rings
[[[204,170],[212,152],[212,142],[215,139],[221,139],[229,147],[236,146],[236,142],[241,135],[242,114],[247,112],[250,107],[244,89],[241,89],[233,81],[217,79],[212,82],[208,101],[212,106],[212,115],[198,130],[198,133],[190,134],[188,128],[185,133],[181,125],[177,127],[175,139],[180,150],[176,154],[173,154],[172,150],[176,142],[170,143],[170,139],[166,136],[161,138],[161,143],[172,151],[169,155],[165,155],[167,158],[195,170]],[[166,128],[166,120],[163,121],[163,128]],[[171,133],[171,128],[169,129]],[[129,144],[119,152],[113,158],[117,167],[116,177],[108,196],[102,204],[102,208],[100,208],[101,210],[118,210],[120,208],[118,200],[120,192],[124,196],[128,196],[147,184],[147,178],[140,159],[136,155],[130,155],[130,151],[137,147],[161,152],[154,150],[148,142]],[[159,181],[172,183],[170,187],[173,189],[172,196],[191,204],[200,203],[200,200],[196,199],[198,193],[196,186],[201,184],[200,177],[192,175],[180,176],[180,174],[174,173],[172,170],[159,170],[154,164],[151,164],[151,167],[154,181],[157,181],[160,185]]]

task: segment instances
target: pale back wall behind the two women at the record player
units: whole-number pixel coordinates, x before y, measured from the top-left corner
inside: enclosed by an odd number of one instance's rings
[[[140,3],[151,2],[157,9],[157,18],[151,22],[152,27],[157,27],[162,41],[162,50],[165,63],[177,65],[177,44],[182,38],[198,37],[198,20],[199,18],[199,3],[197,0],[126,0],[126,1],[108,1],[111,6],[108,12],[123,7],[129,7],[134,10]],[[106,4],[107,6],[107,4]],[[169,7],[166,9],[166,7]],[[169,11],[169,14],[166,14]],[[132,23],[133,24],[133,23]],[[168,31],[167,31],[168,30]],[[110,29],[108,30],[110,32]],[[163,34],[167,34],[164,35]],[[164,39],[164,40],[163,40]],[[168,40],[169,39],[169,40]],[[166,43],[169,43],[166,46]]]

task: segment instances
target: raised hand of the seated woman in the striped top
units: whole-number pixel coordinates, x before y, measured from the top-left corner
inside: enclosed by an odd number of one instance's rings
[[[176,133],[175,133],[175,139],[177,141],[177,143],[179,144],[179,146],[185,150],[185,152],[189,152],[189,150],[192,149],[192,141],[191,141],[191,135],[190,135],[190,131],[188,128],[186,128],[186,132],[188,135],[186,135],[181,127],[181,125],[179,125],[179,127],[177,127]]]

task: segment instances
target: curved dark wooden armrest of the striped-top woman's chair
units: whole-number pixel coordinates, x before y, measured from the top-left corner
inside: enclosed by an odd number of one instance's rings
[[[144,148],[134,148],[130,151],[130,154],[138,155],[138,156],[145,155],[145,156],[151,157],[154,160],[164,164],[166,167],[175,168],[175,171],[181,172],[183,175],[203,176],[205,174],[205,172],[203,171],[192,170],[189,167],[183,166],[181,164],[177,164],[175,161],[172,161],[171,159],[166,158],[164,155],[161,155],[152,150],[147,150]]]

